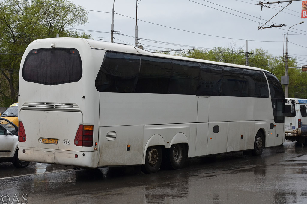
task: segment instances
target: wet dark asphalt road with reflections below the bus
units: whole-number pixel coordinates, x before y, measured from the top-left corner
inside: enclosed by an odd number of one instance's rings
[[[307,147],[295,142],[265,149],[258,157],[233,153],[189,159],[175,171],[135,174],[130,169],[73,170],[40,163],[16,169],[2,163],[0,204],[307,203]]]

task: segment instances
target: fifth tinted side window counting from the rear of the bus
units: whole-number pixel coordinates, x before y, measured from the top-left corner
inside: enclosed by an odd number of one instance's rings
[[[221,96],[248,97],[243,69],[224,67]]]

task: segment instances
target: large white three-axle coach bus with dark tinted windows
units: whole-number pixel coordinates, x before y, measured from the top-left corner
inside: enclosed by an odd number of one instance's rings
[[[161,165],[284,140],[278,79],[255,67],[77,38],[35,40],[19,79],[20,160]]]

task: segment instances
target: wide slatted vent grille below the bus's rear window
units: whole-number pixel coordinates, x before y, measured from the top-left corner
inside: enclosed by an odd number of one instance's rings
[[[76,103],[49,103],[49,102],[25,102],[21,108],[25,109],[71,109],[80,110]]]

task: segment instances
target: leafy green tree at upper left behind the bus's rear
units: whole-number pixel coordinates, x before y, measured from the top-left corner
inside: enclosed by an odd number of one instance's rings
[[[90,35],[65,29],[87,23],[87,12],[67,0],[0,2],[0,106],[18,101],[21,57],[35,39]]]

